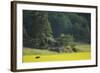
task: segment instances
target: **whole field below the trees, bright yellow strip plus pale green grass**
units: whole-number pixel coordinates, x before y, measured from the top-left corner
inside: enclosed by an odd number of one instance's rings
[[[45,62],[45,61],[68,61],[91,59],[90,45],[79,44],[76,46],[77,52],[57,53],[48,50],[34,48],[24,48],[23,62]],[[39,58],[36,58],[39,57]]]

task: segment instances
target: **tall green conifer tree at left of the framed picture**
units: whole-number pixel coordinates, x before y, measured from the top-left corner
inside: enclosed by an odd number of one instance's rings
[[[52,29],[48,21],[47,12],[33,12],[32,31],[30,36],[38,41],[33,44],[36,48],[47,48],[48,41],[52,37]]]

